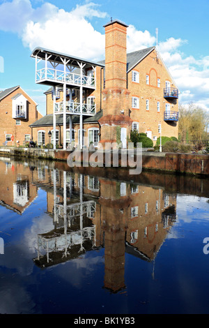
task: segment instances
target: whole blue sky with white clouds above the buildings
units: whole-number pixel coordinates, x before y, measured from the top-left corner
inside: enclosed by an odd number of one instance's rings
[[[45,114],[49,87],[35,82],[33,49],[102,60],[103,26],[112,17],[129,26],[127,52],[158,40],[179,103],[209,112],[208,14],[209,0],[0,0],[0,90],[20,85]]]

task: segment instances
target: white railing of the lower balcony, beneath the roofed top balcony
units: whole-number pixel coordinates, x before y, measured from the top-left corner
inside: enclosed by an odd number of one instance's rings
[[[55,103],[55,113],[63,113],[63,102]],[[66,113],[70,114],[84,114],[95,115],[96,105],[74,103],[73,101],[66,101]]]

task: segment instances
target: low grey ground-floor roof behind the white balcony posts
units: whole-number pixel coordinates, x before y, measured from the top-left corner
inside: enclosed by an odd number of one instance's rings
[[[83,120],[83,123],[97,122],[102,117],[102,115],[102,110],[100,110],[100,112],[96,113],[95,115],[86,117],[86,119]],[[66,123],[70,124],[70,115],[66,116]],[[72,124],[76,123],[79,123],[79,115],[72,115]],[[56,115],[56,125],[63,125],[63,114]],[[33,124],[30,126],[31,128],[36,128],[39,126],[53,126],[53,114],[45,115],[41,119],[38,119],[38,121],[33,122]]]

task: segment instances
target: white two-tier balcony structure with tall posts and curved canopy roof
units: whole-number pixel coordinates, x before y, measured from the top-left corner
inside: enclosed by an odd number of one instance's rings
[[[66,115],[70,115],[70,143],[72,142],[72,115],[79,116],[80,147],[83,147],[83,116],[96,114],[96,107],[92,104],[83,103],[83,90],[96,88],[96,66],[102,64],[87,61],[78,57],[70,56],[36,47],[31,57],[36,59],[36,83],[53,87],[53,131],[54,149],[56,149],[56,114],[63,114],[63,149],[66,149]],[[85,75],[84,70],[90,72]],[[57,89],[63,90],[63,102],[56,102]],[[79,103],[72,101],[72,89],[79,89]],[[70,100],[66,100],[66,90],[69,89]]]

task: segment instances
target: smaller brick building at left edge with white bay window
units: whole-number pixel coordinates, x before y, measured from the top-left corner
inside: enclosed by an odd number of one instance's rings
[[[42,115],[36,102],[20,87],[12,87],[0,92],[0,144],[15,146],[29,142],[34,121]]]

